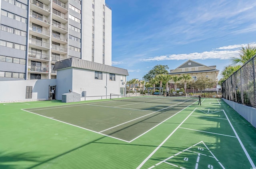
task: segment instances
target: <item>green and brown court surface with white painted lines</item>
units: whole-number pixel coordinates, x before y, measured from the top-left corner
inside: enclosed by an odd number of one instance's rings
[[[0,104],[1,169],[250,169],[256,129],[217,98]]]

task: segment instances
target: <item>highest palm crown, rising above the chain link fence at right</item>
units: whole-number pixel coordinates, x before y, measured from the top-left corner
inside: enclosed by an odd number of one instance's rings
[[[256,46],[248,44],[246,47],[240,48],[239,57],[233,57],[231,59],[232,66],[234,65],[244,65],[248,60],[250,60],[256,54]]]

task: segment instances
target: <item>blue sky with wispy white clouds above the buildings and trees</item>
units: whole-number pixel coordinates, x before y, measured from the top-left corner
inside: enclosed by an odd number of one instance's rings
[[[155,65],[188,59],[224,70],[256,45],[255,0],[106,0],[112,8],[112,66],[142,79]],[[219,73],[218,79],[221,78]]]

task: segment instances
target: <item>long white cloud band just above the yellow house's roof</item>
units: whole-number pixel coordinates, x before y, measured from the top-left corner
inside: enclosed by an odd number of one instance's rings
[[[230,59],[237,57],[239,50],[236,51],[205,51],[202,53],[188,53],[175,55],[162,55],[142,59],[141,61],[164,61],[164,60],[186,60],[186,59]]]

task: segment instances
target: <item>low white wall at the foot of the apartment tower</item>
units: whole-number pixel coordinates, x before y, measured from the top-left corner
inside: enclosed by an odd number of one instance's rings
[[[48,100],[49,85],[55,86],[56,79],[0,81],[0,102]],[[32,86],[31,99],[26,99],[26,86]]]

